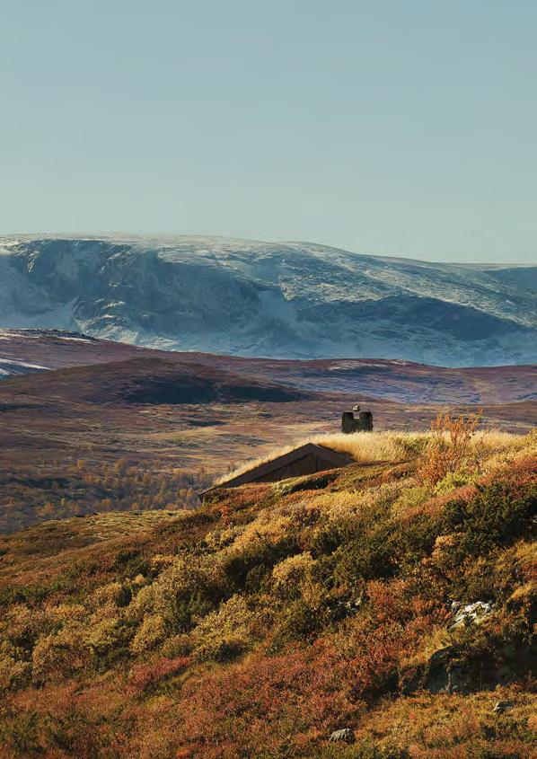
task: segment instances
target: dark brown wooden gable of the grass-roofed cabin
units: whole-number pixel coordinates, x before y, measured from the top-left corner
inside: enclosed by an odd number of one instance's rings
[[[203,500],[220,488],[236,488],[249,482],[278,482],[289,477],[301,477],[304,474],[338,469],[350,463],[356,463],[351,456],[340,454],[338,451],[332,451],[331,448],[319,446],[316,443],[306,443],[287,454],[277,456],[235,477],[230,477],[229,480],[219,482],[199,493],[199,498]]]

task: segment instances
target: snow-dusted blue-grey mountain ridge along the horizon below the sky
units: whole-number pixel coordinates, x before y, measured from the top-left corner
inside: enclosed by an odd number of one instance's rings
[[[527,364],[536,296],[537,266],[197,236],[0,240],[0,326],[160,349]]]

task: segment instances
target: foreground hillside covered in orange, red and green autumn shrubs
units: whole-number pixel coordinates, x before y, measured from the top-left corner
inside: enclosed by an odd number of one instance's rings
[[[537,755],[537,438],[459,432],[1,537],[0,759]]]

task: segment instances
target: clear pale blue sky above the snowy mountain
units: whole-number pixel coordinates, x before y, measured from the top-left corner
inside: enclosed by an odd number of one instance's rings
[[[0,233],[537,259],[534,0],[0,12]]]

